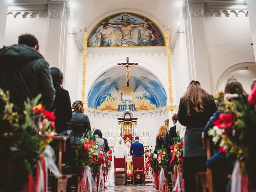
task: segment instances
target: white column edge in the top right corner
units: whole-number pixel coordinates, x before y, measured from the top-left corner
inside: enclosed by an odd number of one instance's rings
[[[255,0],[246,0],[247,8],[248,8],[248,15],[249,15],[249,21],[250,21],[250,28],[252,33],[252,43],[253,43],[253,49],[254,49],[254,57],[256,60],[256,1]]]

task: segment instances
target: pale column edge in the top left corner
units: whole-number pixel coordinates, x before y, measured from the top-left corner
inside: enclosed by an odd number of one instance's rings
[[[7,18],[8,1],[3,0],[0,6],[0,48],[4,45],[4,33]]]

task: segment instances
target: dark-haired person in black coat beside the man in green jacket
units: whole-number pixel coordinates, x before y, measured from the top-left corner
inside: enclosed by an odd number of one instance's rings
[[[56,115],[56,132],[64,133],[68,129],[66,123],[72,118],[70,96],[68,91],[62,88],[62,72],[56,67],[51,67],[50,72],[52,75],[54,88],[56,90],[54,104],[51,109]]]

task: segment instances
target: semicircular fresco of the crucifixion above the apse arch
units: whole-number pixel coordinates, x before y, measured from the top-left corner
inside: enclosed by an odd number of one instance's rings
[[[134,13],[118,13],[94,27],[87,46],[164,46],[164,38],[148,18]]]

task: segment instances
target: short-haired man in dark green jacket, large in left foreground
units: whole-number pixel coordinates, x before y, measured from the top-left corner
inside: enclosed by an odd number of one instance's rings
[[[18,45],[6,46],[0,49],[0,88],[10,92],[10,102],[14,104],[13,111],[23,115],[24,102],[32,100],[42,94],[41,102],[49,110],[54,102],[55,90],[49,64],[39,53],[39,44],[32,34],[23,34],[18,37]],[[4,102],[0,100],[0,115],[4,112]],[[7,169],[10,143],[3,138],[6,129],[10,128],[7,121],[0,119],[0,191],[14,191],[17,180],[24,180],[27,175],[22,175],[24,166],[13,164],[13,174],[8,182]],[[2,158],[4,157],[4,158]],[[24,181],[25,182],[25,181]],[[8,186],[8,184],[10,184]],[[17,188],[16,188],[17,189]],[[20,190],[22,190],[20,188]]]

